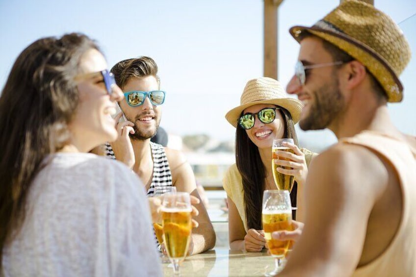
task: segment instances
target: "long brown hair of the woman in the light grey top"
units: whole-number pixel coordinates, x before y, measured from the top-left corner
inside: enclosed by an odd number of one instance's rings
[[[78,106],[81,56],[96,44],[82,34],[48,37],[16,59],[0,97],[0,269],[2,250],[25,218],[31,183],[44,158],[69,141]]]

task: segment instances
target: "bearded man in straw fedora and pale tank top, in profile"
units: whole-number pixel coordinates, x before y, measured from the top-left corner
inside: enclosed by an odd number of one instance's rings
[[[402,31],[345,0],[290,34],[300,51],[286,90],[304,103],[300,126],[329,128],[338,144],[311,164],[305,227],[282,276],[416,276],[416,139],[387,108],[403,98]]]

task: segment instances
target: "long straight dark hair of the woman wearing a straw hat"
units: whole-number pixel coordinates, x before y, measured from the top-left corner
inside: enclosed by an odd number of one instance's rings
[[[284,138],[292,138],[298,145],[292,116],[285,109],[280,107],[285,122]],[[242,112],[241,112],[242,115]],[[237,169],[241,175],[244,193],[244,210],[246,214],[247,227],[260,230],[261,227],[261,202],[263,201],[263,191],[266,186],[266,169],[260,158],[259,149],[250,140],[246,131],[237,126],[235,132],[235,161]],[[293,204],[296,204],[297,184],[293,186],[290,197]]]

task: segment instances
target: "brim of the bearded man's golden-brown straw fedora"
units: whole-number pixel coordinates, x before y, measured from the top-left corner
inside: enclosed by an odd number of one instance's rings
[[[338,31],[323,29],[317,26],[293,26],[289,29],[293,38],[300,43],[300,34],[309,32],[339,49],[345,51],[364,64],[367,70],[379,81],[386,91],[389,102],[400,102],[403,99],[403,85],[389,63],[373,49],[362,42]]]

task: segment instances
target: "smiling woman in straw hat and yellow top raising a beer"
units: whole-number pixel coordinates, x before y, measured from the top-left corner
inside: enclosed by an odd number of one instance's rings
[[[297,146],[294,124],[299,121],[301,110],[302,103],[289,98],[279,81],[260,77],[247,82],[241,104],[225,116],[236,127],[236,163],[223,179],[232,250],[259,252],[265,245],[261,201],[264,190],[277,189],[271,167],[274,138],[293,138],[295,143],[287,144],[295,154],[282,153],[290,162],[279,160],[277,164],[287,166],[290,163],[292,169],[281,172],[295,177],[297,184],[292,189],[292,203],[296,204],[297,190],[302,188],[313,155]]]

